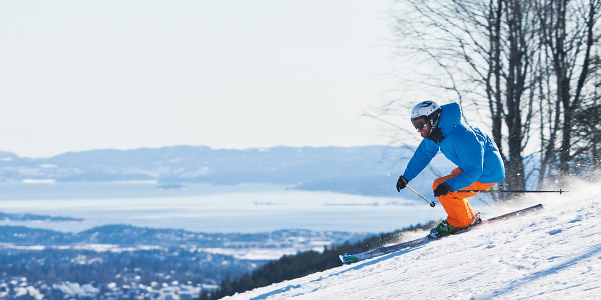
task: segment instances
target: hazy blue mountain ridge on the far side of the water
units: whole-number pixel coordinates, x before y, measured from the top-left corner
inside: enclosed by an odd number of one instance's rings
[[[394,185],[412,154],[412,149],[389,146],[244,150],[171,146],[67,152],[50,158],[22,158],[0,151],[0,182],[271,183],[303,190],[394,196]],[[441,174],[453,168],[442,155],[433,161]],[[437,175],[433,172],[424,170],[413,185],[428,190]]]

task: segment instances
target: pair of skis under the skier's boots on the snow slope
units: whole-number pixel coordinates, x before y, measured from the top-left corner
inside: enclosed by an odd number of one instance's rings
[[[538,209],[542,209],[542,208],[543,208],[542,204],[537,204],[534,206],[530,206],[529,208],[520,209],[518,211],[509,212],[508,214],[499,215],[498,217],[483,220],[481,223],[474,224],[474,226],[478,226],[479,224],[484,224],[484,223],[491,223],[491,222],[498,221],[498,220],[504,220],[509,217],[516,217],[519,215],[526,214],[528,212],[537,211]],[[451,235],[456,235],[459,233],[466,232],[466,231],[472,229],[474,226],[467,227],[466,229],[463,229],[463,230],[459,230],[457,232],[452,233]],[[382,255],[392,253],[392,252],[395,252],[395,251],[398,251],[398,250],[401,250],[404,248],[409,248],[409,247],[413,247],[416,245],[426,244],[429,241],[444,238],[445,236],[449,236],[449,235],[444,235],[444,236],[436,237],[436,238],[434,238],[430,235],[427,235],[427,236],[424,236],[423,238],[413,239],[412,241],[407,241],[407,242],[401,242],[400,244],[379,247],[379,248],[369,250],[369,251],[344,253],[343,255],[340,255],[339,257],[340,257],[340,260],[342,261],[342,263],[344,263],[345,265],[350,265],[351,263],[361,262],[362,260],[371,259],[371,258],[377,257],[377,256],[382,256]]]

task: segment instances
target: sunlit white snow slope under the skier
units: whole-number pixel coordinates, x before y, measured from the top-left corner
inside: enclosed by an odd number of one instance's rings
[[[569,190],[511,208],[474,205],[484,217],[545,209],[225,299],[599,299],[601,185]]]

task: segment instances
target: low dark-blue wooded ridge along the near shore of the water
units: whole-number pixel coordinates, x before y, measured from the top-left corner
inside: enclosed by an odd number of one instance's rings
[[[370,233],[313,231],[305,229],[281,229],[259,233],[211,233],[191,232],[183,229],[136,227],[124,224],[109,224],[93,227],[78,233],[59,232],[49,229],[24,226],[0,226],[0,248],[13,245],[82,245],[108,244],[118,247],[154,245],[161,247],[236,248],[245,242],[253,242],[254,248],[295,247],[308,245],[311,241],[326,241],[329,244],[357,242]],[[246,245],[245,247],[250,247]],[[305,248],[307,248],[305,247]],[[310,248],[310,247],[309,247]]]

